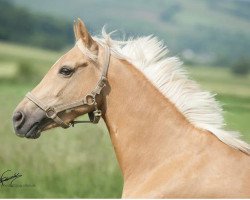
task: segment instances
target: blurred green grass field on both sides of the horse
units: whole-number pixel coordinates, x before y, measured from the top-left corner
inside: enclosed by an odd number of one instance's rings
[[[12,130],[14,108],[60,53],[0,43],[0,173],[10,169],[22,177],[1,187],[0,198],[120,197],[122,177],[103,122],[48,131],[38,140],[21,139]],[[34,81],[15,82],[18,63],[32,63]],[[250,77],[239,78],[222,68],[188,67],[201,87],[218,93],[228,128],[250,141]],[[1,79],[3,77],[8,79]],[[12,78],[11,78],[12,77]],[[13,80],[13,81],[12,81]]]

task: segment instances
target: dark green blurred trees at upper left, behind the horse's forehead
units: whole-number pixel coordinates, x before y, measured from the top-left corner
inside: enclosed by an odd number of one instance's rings
[[[72,23],[0,0],[0,40],[59,50],[73,43]]]

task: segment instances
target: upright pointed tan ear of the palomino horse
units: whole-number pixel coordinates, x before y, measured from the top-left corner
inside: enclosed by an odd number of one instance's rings
[[[74,24],[74,32],[76,40],[82,39],[83,43],[89,50],[94,50],[97,47],[96,42],[92,39],[85,24],[78,18],[77,23]]]

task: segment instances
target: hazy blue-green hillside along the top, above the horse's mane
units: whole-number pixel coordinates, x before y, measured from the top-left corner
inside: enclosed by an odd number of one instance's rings
[[[73,21],[93,33],[107,24],[126,36],[154,34],[189,62],[228,65],[250,52],[250,2],[244,0],[15,0],[34,12]],[[123,35],[123,34],[121,34]]]

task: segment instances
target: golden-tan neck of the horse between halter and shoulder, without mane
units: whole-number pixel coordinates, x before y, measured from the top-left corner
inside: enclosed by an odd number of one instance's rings
[[[135,67],[112,58],[108,80],[103,117],[125,181],[198,149],[202,134]]]

